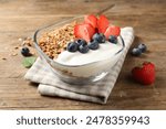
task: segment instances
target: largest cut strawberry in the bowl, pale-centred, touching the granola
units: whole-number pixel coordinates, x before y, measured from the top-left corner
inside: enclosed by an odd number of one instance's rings
[[[95,29],[87,23],[76,24],[74,26],[74,35],[79,39],[84,39],[86,42],[91,41],[95,33]]]

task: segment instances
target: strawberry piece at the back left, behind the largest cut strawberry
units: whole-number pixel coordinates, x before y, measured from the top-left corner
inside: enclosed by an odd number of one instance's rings
[[[94,29],[97,28],[97,18],[94,14],[85,15],[84,23],[91,24]]]

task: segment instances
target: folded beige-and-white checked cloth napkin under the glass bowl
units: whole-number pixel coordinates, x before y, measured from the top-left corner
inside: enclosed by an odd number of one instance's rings
[[[44,65],[40,57],[35,61],[32,67],[27,72],[24,78],[31,82],[39,83],[38,90],[41,95],[59,96],[71,99],[79,99],[98,104],[106,104],[107,98],[116,83],[122,65],[124,63],[126,53],[133,43],[134,31],[133,28],[124,28],[121,35],[125,42],[123,55],[112,72],[101,82],[89,85],[70,85],[60,80],[56,75]]]

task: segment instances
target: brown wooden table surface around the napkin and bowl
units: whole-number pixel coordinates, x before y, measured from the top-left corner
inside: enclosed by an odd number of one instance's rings
[[[127,54],[106,105],[43,97],[37,85],[23,79],[22,56],[11,56],[19,39],[64,17],[104,13],[114,24],[131,25],[135,42],[147,45],[141,57]],[[7,58],[7,60],[4,60]],[[154,86],[129,79],[132,67],[151,61],[156,65]],[[166,1],[165,0],[1,0],[0,1],[0,109],[166,109]]]

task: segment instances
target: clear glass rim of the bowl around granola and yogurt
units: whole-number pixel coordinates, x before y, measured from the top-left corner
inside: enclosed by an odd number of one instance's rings
[[[41,50],[41,47],[39,46],[39,43],[38,43],[37,37],[38,37],[38,34],[39,34],[40,31],[42,31],[42,30],[44,30],[44,29],[46,29],[46,28],[53,26],[53,25],[54,25],[54,26],[58,26],[58,25],[61,25],[61,24],[63,24],[63,23],[69,23],[69,22],[72,22],[73,20],[76,20],[76,19],[80,19],[80,18],[83,18],[83,17],[82,17],[82,15],[81,15],[81,17],[74,17],[74,18],[68,19],[68,20],[65,20],[65,21],[62,21],[62,20],[61,20],[61,21],[58,21],[58,22],[55,22],[55,23],[53,23],[53,24],[49,24],[49,25],[45,25],[45,26],[42,26],[42,28],[38,29],[38,30],[34,32],[34,34],[33,34],[33,43],[34,43],[34,46],[35,46],[35,49],[37,49],[39,55],[44,56],[44,58],[46,60],[46,62],[48,62],[48,61],[51,62],[51,63],[53,62],[53,63],[55,63],[55,64],[58,64],[58,65],[65,66],[65,67],[80,67],[80,66],[91,65],[91,64],[95,64],[95,63],[98,63],[98,62],[106,61],[107,58],[104,58],[104,60],[101,60],[101,61],[96,61],[96,62],[92,62],[92,63],[87,63],[87,64],[82,64],[82,65],[65,65],[65,64],[61,64],[61,63],[55,62],[54,60],[50,58],[50,57]],[[114,56],[117,55],[118,53],[121,53],[121,52],[124,50],[124,47],[125,47],[125,42],[124,42],[122,35],[120,35],[118,37],[120,37],[121,41],[122,41],[122,49],[118,50],[118,51],[114,54]]]

